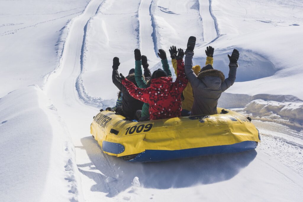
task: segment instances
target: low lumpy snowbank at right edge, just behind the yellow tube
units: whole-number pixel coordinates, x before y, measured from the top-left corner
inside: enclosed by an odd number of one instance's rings
[[[292,95],[222,93],[218,106],[244,108],[255,119],[280,122],[301,127],[303,125],[303,100]],[[242,111],[242,110],[241,110]]]

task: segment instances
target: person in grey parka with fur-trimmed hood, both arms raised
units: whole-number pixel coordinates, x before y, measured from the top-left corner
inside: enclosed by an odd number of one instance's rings
[[[236,71],[238,67],[239,51],[234,49],[229,58],[229,73],[225,79],[223,72],[215,70],[211,64],[206,65],[201,69],[198,76],[192,70],[192,57],[196,37],[189,37],[187,49],[185,51],[185,75],[191,83],[194,103],[191,109],[191,115],[212,115],[217,114],[217,104],[221,93],[234,84],[236,79]],[[205,51],[207,56],[213,56],[212,51]]]

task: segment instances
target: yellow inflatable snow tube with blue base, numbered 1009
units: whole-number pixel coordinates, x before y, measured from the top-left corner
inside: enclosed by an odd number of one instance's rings
[[[102,111],[94,117],[91,134],[106,154],[139,162],[256,148],[260,136],[248,118],[227,109],[218,108],[218,112],[132,122],[115,112]]]

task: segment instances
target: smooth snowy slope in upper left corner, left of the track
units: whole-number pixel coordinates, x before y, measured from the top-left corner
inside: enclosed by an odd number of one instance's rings
[[[58,66],[68,22],[87,0],[0,2],[0,97],[37,84]]]

